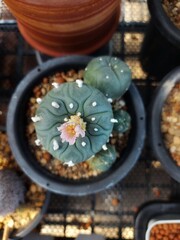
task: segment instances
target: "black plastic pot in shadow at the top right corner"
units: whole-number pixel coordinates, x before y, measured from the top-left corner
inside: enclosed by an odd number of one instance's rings
[[[151,21],[141,49],[141,64],[151,76],[161,80],[180,65],[180,30],[171,22],[161,0],[148,0]]]

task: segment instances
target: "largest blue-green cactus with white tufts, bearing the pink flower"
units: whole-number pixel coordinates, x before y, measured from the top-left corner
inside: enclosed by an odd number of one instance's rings
[[[35,129],[40,143],[55,158],[72,165],[99,152],[113,129],[112,107],[107,98],[98,89],[87,84],[79,86],[76,82],[64,83],[49,91],[36,117]],[[85,135],[82,133],[70,144],[60,136],[60,131],[75,129],[74,119]]]

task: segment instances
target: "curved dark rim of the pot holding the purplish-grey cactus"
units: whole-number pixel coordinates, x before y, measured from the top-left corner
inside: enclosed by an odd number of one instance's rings
[[[13,231],[10,237],[8,238],[9,240],[20,240],[23,239],[26,235],[28,235],[37,225],[40,223],[42,220],[44,214],[47,211],[49,202],[50,202],[50,192],[46,192],[46,198],[44,201],[44,204],[40,210],[40,212],[37,214],[37,216],[24,228],[19,229],[17,231]],[[0,237],[2,237],[0,235]]]

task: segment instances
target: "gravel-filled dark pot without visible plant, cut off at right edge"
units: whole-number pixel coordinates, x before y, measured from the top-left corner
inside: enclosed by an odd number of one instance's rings
[[[167,74],[151,105],[150,141],[158,160],[180,182],[180,67]]]

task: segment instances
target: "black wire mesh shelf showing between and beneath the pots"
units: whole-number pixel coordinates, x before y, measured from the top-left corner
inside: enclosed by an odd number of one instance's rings
[[[0,17],[0,127],[5,129],[9,99],[18,82],[39,61],[37,52],[24,41],[3,1],[0,1]],[[110,54],[120,57],[131,67],[133,81],[140,90],[146,110],[160,80],[150,78],[139,60],[148,22],[145,0],[123,0],[120,23],[110,42]],[[102,234],[106,239],[134,240],[135,216],[141,206],[154,200],[177,200],[179,189],[180,184],[166,173],[145,144],[136,166],[114,187],[83,197],[52,194],[38,231],[67,240],[91,233]]]

